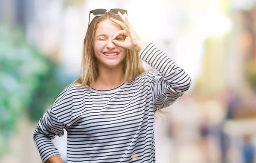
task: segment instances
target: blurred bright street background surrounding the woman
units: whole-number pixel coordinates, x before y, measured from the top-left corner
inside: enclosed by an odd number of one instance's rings
[[[99,8],[128,10],[192,78],[155,122],[157,163],[256,163],[256,0],[0,0],[0,163],[41,162],[32,134]],[[66,135],[54,143],[65,160]]]

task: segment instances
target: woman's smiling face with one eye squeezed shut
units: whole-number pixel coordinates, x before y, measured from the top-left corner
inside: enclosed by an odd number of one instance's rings
[[[122,28],[111,20],[103,20],[98,24],[94,39],[94,54],[98,60],[99,70],[101,68],[115,69],[123,66],[126,49],[116,46],[112,42],[113,35]],[[118,41],[124,41],[125,36],[116,37]]]

